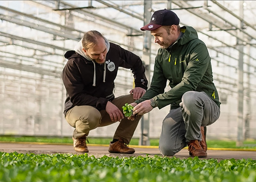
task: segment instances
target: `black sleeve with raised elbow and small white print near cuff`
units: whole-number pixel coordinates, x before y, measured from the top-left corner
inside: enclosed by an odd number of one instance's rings
[[[147,90],[148,80],[145,76],[145,67],[140,57],[116,44],[111,44],[119,51],[119,66],[123,68],[130,68],[134,74],[135,87],[141,87]]]

